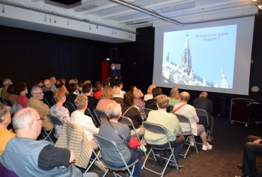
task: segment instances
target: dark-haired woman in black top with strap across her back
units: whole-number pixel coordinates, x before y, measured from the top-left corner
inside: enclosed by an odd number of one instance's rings
[[[122,105],[122,115],[130,118],[135,126],[136,130],[131,130],[131,136],[135,136],[135,131],[142,137],[144,135],[144,129],[142,127],[143,118],[140,111],[134,105],[134,96],[131,91],[127,91],[124,95],[123,105]],[[130,127],[132,129],[132,127]]]

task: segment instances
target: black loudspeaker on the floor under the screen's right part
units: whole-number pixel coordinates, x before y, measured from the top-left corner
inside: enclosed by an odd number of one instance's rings
[[[213,102],[213,115],[227,118],[227,98],[216,96]]]

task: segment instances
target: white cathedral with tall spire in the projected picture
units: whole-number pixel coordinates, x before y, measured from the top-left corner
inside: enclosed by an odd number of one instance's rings
[[[213,83],[213,81],[207,81],[205,76],[200,77],[193,73],[192,59],[190,54],[190,48],[188,45],[188,35],[186,35],[186,44],[183,50],[181,64],[176,64],[169,58],[169,53],[166,57],[166,61],[162,65],[162,76],[166,84],[182,84],[189,86],[207,86],[207,87],[220,87],[229,89],[230,86],[227,83],[226,76],[224,76],[221,69],[221,83]]]

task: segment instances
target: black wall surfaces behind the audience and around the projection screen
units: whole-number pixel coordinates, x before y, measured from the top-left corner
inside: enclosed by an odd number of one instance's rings
[[[250,84],[262,91],[262,16],[256,16],[252,49]],[[110,56],[110,47],[118,48],[118,59],[110,62],[121,64],[124,90],[136,85],[147,93],[152,84],[154,66],[154,28],[137,29],[136,42],[110,44],[71,38],[62,35],[40,33],[31,30],[0,26],[0,78],[9,77],[13,81],[26,81],[28,85],[41,77],[51,75],[70,79],[76,76],[80,81],[101,80],[101,61]],[[169,95],[170,89],[162,88]],[[181,90],[183,91],[183,90]],[[200,91],[190,92],[190,101],[198,97]],[[210,93],[209,97],[219,105],[224,116],[229,115],[232,98],[252,98],[261,100],[262,93],[241,96],[224,93]],[[218,107],[217,107],[218,108]],[[219,111],[220,112],[220,111]]]

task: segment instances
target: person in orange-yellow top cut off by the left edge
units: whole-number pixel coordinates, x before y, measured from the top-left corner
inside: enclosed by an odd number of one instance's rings
[[[7,130],[11,123],[11,108],[8,105],[0,105],[0,156],[6,148],[7,142],[16,137],[12,130]]]

